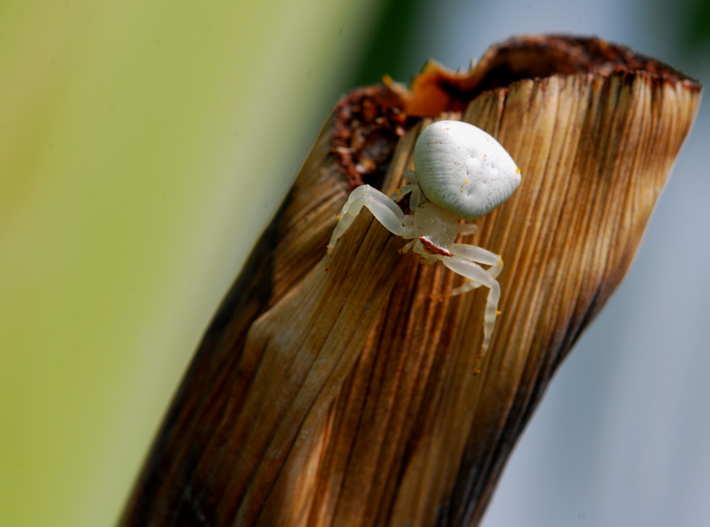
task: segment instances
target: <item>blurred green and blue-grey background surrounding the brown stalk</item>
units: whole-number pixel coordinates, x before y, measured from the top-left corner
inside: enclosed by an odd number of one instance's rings
[[[340,94],[510,35],[710,80],[706,0],[0,5],[0,524],[113,523],[204,326]],[[710,115],[486,526],[699,526]]]

